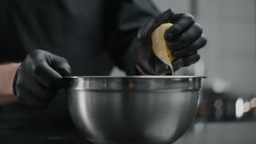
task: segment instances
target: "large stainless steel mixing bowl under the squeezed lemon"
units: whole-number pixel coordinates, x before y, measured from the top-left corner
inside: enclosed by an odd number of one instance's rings
[[[95,144],[171,144],[197,111],[195,76],[65,77],[76,128]]]

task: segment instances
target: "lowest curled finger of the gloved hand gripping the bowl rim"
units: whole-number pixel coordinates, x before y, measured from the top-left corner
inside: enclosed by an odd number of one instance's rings
[[[46,101],[36,98],[33,96],[33,93],[26,88],[19,87],[17,88],[17,98],[21,104],[27,105],[33,108],[45,109],[48,106]]]

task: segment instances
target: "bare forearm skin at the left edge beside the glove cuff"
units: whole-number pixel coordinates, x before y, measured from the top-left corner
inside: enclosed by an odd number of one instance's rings
[[[0,105],[17,101],[13,94],[13,79],[19,66],[20,63],[0,65]]]

